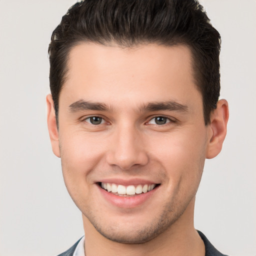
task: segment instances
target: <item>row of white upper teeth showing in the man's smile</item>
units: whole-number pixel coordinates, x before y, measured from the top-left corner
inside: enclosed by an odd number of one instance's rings
[[[129,196],[129,195],[146,193],[154,189],[156,185],[157,184],[138,184],[138,185],[124,186],[124,185],[114,184],[114,183],[105,183],[105,182],[100,183],[100,186],[104,190],[119,196]]]

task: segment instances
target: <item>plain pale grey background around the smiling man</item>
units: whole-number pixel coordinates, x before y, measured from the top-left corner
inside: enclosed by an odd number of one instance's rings
[[[46,126],[47,45],[75,0],[0,0],[0,255],[45,256],[83,233]],[[221,252],[256,255],[256,1],[202,0],[222,37],[222,152],[206,160],[195,227]]]

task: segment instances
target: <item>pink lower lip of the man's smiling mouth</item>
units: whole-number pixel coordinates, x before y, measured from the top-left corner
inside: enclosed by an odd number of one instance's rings
[[[119,196],[111,192],[106,191],[105,189],[98,186],[100,193],[103,197],[109,201],[111,204],[120,207],[120,208],[134,208],[143,204],[148,200],[153,194],[158,190],[159,186],[156,186],[154,189],[141,194],[136,194],[134,196]]]

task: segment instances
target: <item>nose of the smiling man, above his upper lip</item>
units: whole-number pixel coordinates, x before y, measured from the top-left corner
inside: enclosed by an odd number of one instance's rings
[[[108,164],[128,170],[134,165],[145,165],[148,162],[143,138],[134,127],[116,129],[110,143],[106,156]]]

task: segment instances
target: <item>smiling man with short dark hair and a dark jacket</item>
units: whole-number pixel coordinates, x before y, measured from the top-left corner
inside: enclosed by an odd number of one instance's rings
[[[84,0],[62,17],[47,121],[85,236],[61,255],[223,255],[193,226],[226,134],[219,49],[195,0]]]

